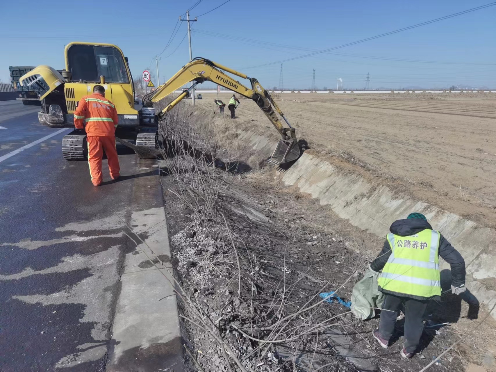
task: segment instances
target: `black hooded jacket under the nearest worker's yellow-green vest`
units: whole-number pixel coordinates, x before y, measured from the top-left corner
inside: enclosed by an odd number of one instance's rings
[[[395,235],[399,235],[402,237],[417,234],[418,232],[430,229],[432,230],[432,226],[429,222],[424,221],[420,218],[412,218],[409,220],[397,220],[394,221],[389,231]],[[451,246],[451,244],[441,235],[439,240],[439,256],[447,263],[451,265],[451,284],[455,287],[458,287],[462,284],[465,284],[465,260],[461,256],[461,254]],[[371,263],[371,268],[374,271],[379,271],[384,268],[389,256],[391,255],[391,247],[389,247],[389,242],[384,242],[384,246],[382,250],[377,255]],[[379,290],[380,287],[379,287]],[[382,291],[384,293],[389,293],[389,291]],[[392,293],[391,294],[396,294]],[[397,294],[400,296],[408,296],[404,294]],[[416,296],[408,296],[417,298]]]

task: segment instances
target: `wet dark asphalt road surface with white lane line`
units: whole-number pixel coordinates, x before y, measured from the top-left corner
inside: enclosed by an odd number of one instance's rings
[[[94,187],[86,162],[62,158],[71,129],[38,124],[38,110],[0,102],[0,370],[105,371],[125,255],[136,248],[123,230],[135,181],[153,163],[120,153],[121,179],[110,180],[104,160]]]

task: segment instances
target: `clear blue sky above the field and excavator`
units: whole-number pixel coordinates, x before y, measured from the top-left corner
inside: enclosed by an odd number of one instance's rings
[[[71,41],[116,44],[129,58],[134,76],[145,68],[155,76],[152,58],[163,51],[179,16],[196,1],[143,0],[137,5],[128,0],[49,0],[41,5],[24,0],[22,7],[29,11],[0,13],[0,80],[9,81],[9,65],[63,68],[63,48]],[[190,15],[194,18],[224,1],[203,0]],[[238,69],[272,88],[279,85],[280,63],[253,66],[332,48],[488,2],[231,0],[192,23],[193,57]],[[331,52],[335,54],[284,62],[284,87],[310,88],[315,68],[317,88],[335,88],[338,77],[345,88],[363,88],[370,73],[371,88],[469,84],[496,89],[495,16],[496,6],[492,6]],[[189,60],[186,22],[178,26],[159,61],[162,82]],[[152,80],[157,83],[156,76]]]

